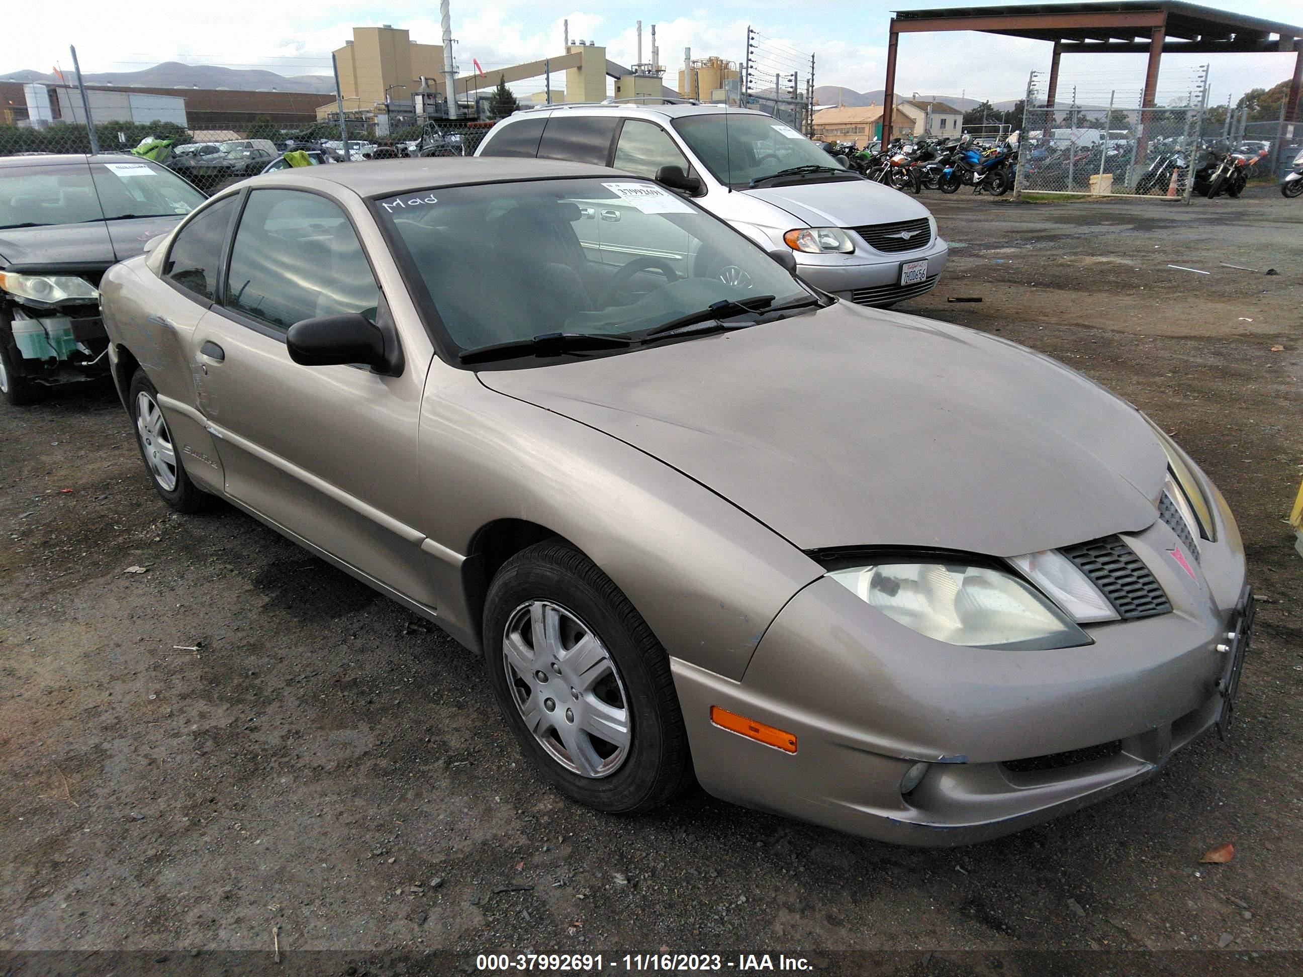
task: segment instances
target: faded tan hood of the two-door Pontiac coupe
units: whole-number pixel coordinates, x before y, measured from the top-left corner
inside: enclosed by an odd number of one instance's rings
[[[1014,556],[1139,531],[1166,473],[1140,413],[1061,363],[846,304],[480,376],[661,459],[803,550]]]

